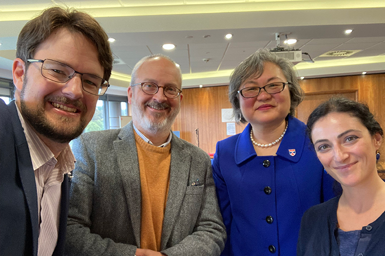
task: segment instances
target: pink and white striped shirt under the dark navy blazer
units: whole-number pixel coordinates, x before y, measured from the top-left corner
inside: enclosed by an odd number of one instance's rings
[[[56,159],[47,145],[25,122],[18,108],[17,113],[28,142],[35,174],[37,209],[39,211],[37,255],[52,255],[59,234],[61,185],[64,174],[74,169],[75,157],[68,145]]]

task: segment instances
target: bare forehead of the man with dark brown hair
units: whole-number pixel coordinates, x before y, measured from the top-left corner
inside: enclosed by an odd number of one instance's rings
[[[36,49],[36,59],[60,61],[81,73],[103,77],[98,50],[93,42],[79,32],[60,28],[52,32]]]

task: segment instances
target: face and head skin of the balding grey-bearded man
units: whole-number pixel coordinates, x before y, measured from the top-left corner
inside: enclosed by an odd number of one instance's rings
[[[152,58],[142,63],[137,70],[135,83],[154,82],[161,87],[182,87],[179,70],[171,61]],[[167,141],[172,123],[180,110],[183,95],[169,99],[159,88],[156,94],[145,94],[140,86],[129,87],[128,103],[131,104],[132,121],[154,145],[159,146]]]

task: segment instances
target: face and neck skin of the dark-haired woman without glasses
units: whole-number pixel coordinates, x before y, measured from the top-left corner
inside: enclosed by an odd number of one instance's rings
[[[358,230],[375,221],[385,211],[385,183],[376,168],[380,134],[372,136],[356,117],[334,112],[314,124],[312,139],[320,162],[343,189],[339,228]]]

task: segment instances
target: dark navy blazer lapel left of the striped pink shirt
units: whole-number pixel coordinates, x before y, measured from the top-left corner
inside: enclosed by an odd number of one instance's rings
[[[33,255],[37,255],[39,227],[35,175],[33,172],[32,160],[29,153],[27,139],[24,134],[22,123],[18,118],[15,101],[11,101],[8,107],[11,114],[13,129],[15,131],[18,171],[31,217]]]

